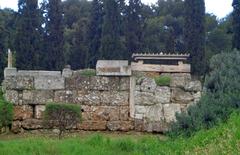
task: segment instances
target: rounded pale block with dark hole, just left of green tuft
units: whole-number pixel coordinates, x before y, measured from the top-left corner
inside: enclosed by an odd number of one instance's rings
[[[156,90],[157,84],[152,78],[144,78],[141,82],[141,91],[154,93]]]

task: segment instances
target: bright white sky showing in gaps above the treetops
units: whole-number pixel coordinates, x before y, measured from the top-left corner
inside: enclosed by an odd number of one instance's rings
[[[0,8],[12,8],[17,10],[18,0],[0,0]],[[142,0],[145,4],[156,3],[157,0]],[[232,0],[205,0],[206,12],[215,14],[219,19],[232,11]]]

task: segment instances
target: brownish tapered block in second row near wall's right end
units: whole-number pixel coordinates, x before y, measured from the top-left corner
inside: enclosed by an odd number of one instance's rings
[[[193,101],[194,98],[189,92],[185,92],[181,88],[174,88],[172,90],[171,101],[186,104]]]

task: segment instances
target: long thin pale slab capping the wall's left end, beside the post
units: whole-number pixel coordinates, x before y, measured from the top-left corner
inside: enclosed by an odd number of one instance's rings
[[[19,70],[17,73],[18,76],[54,76],[61,77],[61,71],[27,71],[27,70]]]

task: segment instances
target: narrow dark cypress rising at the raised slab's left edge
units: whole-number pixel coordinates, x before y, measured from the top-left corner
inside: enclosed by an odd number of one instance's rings
[[[100,56],[101,35],[102,35],[102,23],[103,23],[103,5],[102,0],[93,0],[90,26],[88,30],[89,34],[89,67],[96,66],[96,62]]]

